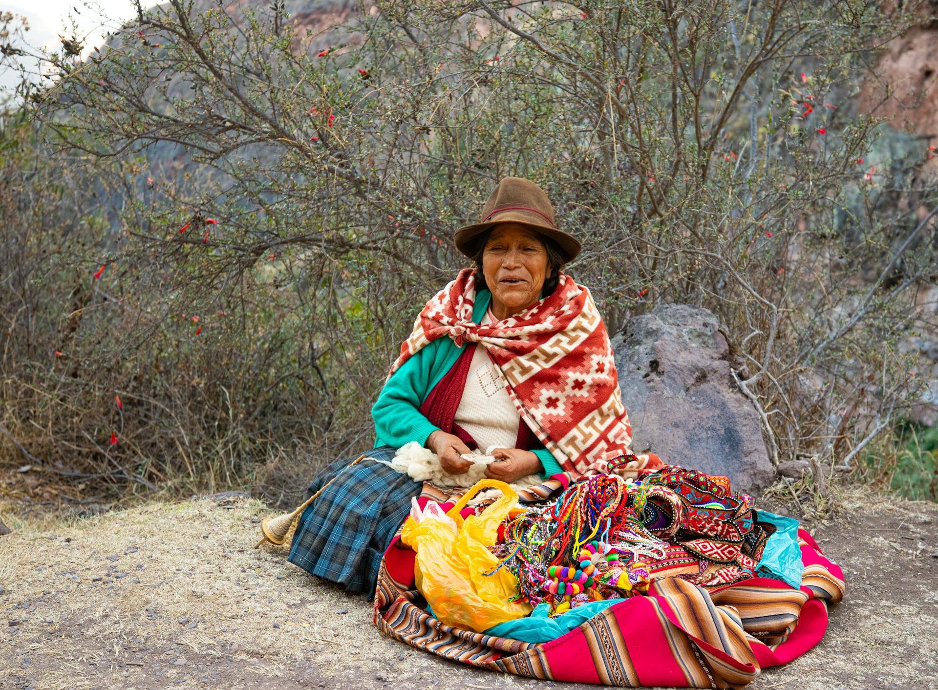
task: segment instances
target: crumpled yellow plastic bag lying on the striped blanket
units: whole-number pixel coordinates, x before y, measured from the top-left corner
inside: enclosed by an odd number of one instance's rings
[[[501,489],[502,498],[463,521],[462,508],[487,488]],[[446,513],[449,520],[411,516],[404,522],[401,541],[416,551],[416,589],[439,621],[481,633],[531,613],[527,603],[508,601],[518,593],[515,575],[506,568],[485,575],[499,563],[486,546],[495,544],[499,523],[517,504],[518,493],[507,483],[483,479]]]

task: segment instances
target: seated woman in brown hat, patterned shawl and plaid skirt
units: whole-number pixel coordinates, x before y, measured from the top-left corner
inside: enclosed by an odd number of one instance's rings
[[[347,590],[373,595],[387,545],[421,483],[375,460],[416,441],[447,472],[473,449],[499,458],[486,475],[505,482],[605,471],[628,453],[630,428],[612,346],[589,291],[562,268],[580,242],[559,230],[547,195],[505,177],[480,222],[460,228],[471,257],[427,302],[371,409],[370,458],[325,468],[308,496],[289,560]],[[657,458],[656,458],[657,460]],[[337,476],[338,475],[338,476]]]

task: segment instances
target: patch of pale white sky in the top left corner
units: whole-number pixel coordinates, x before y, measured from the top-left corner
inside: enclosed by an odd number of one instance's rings
[[[144,2],[144,8],[156,4],[156,0],[148,0]],[[104,34],[119,26],[121,20],[136,15],[131,0],[0,0],[0,11],[26,17],[30,30],[26,32],[25,40],[37,48],[54,48],[59,43],[58,34],[71,37],[71,20],[68,19],[68,12],[71,11],[78,26],[79,38],[86,37],[83,41],[83,57],[94,46],[100,47],[104,42]],[[102,25],[105,18],[111,21]],[[65,27],[69,28],[63,31]],[[34,72],[38,69],[35,60],[24,62],[24,65]],[[9,89],[18,82],[19,75],[15,71],[0,67],[0,88]]]

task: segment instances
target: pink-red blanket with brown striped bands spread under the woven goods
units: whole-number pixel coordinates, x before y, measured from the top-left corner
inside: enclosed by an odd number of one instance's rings
[[[567,483],[556,477],[521,492],[522,500],[552,495]],[[419,502],[428,498],[448,496],[425,485]],[[426,652],[530,678],[623,687],[741,687],[762,668],[788,663],[817,644],[827,627],[827,605],[843,597],[840,568],[807,531],[800,529],[798,537],[805,564],[799,590],[765,577],[708,589],[662,578],[647,596],[624,599],[543,644],[437,621],[419,606],[415,554],[395,537],[378,575],[374,622],[386,635]]]

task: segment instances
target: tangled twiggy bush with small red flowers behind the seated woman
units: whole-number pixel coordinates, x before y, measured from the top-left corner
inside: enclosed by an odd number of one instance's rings
[[[50,56],[59,77],[25,93],[42,165],[100,205],[52,259],[55,222],[20,248],[69,276],[31,284],[48,314],[8,335],[26,450],[220,488],[370,446],[398,344],[467,263],[452,229],[506,175],[582,238],[569,270],[611,330],[662,300],[719,314],[774,460],[850,463],[914,398],[928,149],[877,158],[884,130],[850,96],[916,7],[375,7],[313,36],[282,2],[171,0],[86,63]]]

